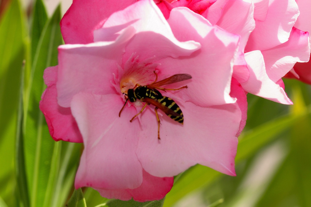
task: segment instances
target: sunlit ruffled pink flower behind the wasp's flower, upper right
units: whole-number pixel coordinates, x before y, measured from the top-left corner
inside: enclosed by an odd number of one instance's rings
[[[295,0],[178,0],[158,6],[166,18],[172,8],[188,7],[212,25],[239,34],[233,77],[248,93],[292,104],[281,78],[310,56],[309,33],[293,27],[299,15]]]

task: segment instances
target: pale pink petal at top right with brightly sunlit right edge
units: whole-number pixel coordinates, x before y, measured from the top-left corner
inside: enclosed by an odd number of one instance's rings
[[[262,51],[285,43],[298,15],[295,0],[270,0],[266,19],[256,21],[256,28],[251,33],[245,50]]]

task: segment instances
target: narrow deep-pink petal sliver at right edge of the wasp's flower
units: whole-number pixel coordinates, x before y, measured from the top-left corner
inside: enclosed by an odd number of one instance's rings
[[[241,110],[241,121],[239,131],[236,133],[236,137],[240,136],[242,130],[245,127],[247,119],[247,92],[242,88],[241,84],[232,78],[230,96],[237,99],[237,104]]]

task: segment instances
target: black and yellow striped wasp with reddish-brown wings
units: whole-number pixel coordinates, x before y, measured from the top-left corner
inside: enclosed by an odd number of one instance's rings
[[[168,117],[173,119],[176,122],[179,122],[183,124],[183,112],[179,108],[179,106],[176,104],[176,102],[166,96],[162,96],[159,90],[180,90],[182,88],[188,88],[187,85],[177,88],[177,89],[166,89],[166,88],[161,88],[161,85],[167,85],[171,83],[176,83],[180,81],[185,81],[188,79],[191,79],[192,76],[189,74],[175,74],[173,76],[170,76],[168,78],[165,78],[162,81],[157,81],[158,75],[156,71],[153,71],[156,74],[156,80],[152,82],[149,85],[139,85],[136,84],[134,88],[128,89],[128,94],[125,94],[128,98],[126,99],[122,109],[119,112],[119,117],[121,116],[121,112],[123,108],[125,107],[125,104],[128,102],[135,102],[137,99],[146,102],[146,104],[142,107],[142,110],[137,113],[131,120],[130,122],[133,121],[135,117],[137,117],[139,114],[143,112],[143,110],[146,108],[147,105],[153,105],[155,106],[155,112],[156,112],[156,118],[158,121],[158,139],[160,140],[160,119],[158,116],[157,109],[159,108],[162,110]]]

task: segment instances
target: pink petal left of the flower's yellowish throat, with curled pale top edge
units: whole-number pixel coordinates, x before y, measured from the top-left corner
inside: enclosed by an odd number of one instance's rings
[[[133,36],[128,28],[116,41],[61,45],[58,48],[58,104],[69,107],[72,97],[81,92],[116,93],[111,80],[121,66],[124,45]]]

